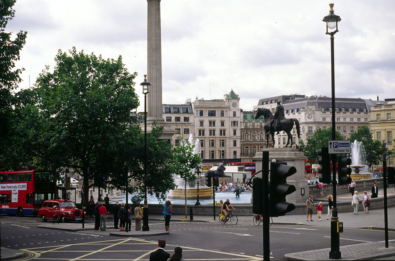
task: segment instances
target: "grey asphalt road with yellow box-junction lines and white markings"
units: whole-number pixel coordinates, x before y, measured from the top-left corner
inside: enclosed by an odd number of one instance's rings
[[[262,260],[263,227],[249,219],[240,217],[236,225],[172,221],[169,235],[120,238],[97,231],[43,229],[37,227],[39,218],[2,215],[0,236],[1,247],[23,250],[34,260],[148,260],[159,239],[166,239],[169,253],[181,246],[185,260]],[[164,230],[164,222],[150,221],[150,229]],[[389,232],[389,240],[395,241],[395,232]],[[340,246],[378,241],[384,241],[384,231],[347,228],[340,234]],[[285,260],[286,253],[329,248],[330,229],[275,224],[270,227],[270,246],[273,260]]]

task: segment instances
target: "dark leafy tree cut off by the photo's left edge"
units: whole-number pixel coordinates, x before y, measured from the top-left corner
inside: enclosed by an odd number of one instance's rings
[[[11,33],[5,32],[5,27],[14,15],[12,9],[15,0],[0,1],[0,169],[11,170],[17,165],[19,155],[13,153],[18,150],[20,143],[17,135],[19,123],[18,113],[15,111],[17,98],[12,91],[21,83],[20,74],[23,68],[16,69],[15,62],[19,60],[19,52],[26,43],[27,32],[17,33],[11,40]]]

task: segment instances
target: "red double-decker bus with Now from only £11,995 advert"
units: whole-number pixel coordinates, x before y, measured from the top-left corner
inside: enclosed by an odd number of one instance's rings
[[[0,172],[0,213],[37,215],[44,200],[56,199],[56,178],[51,170]]]

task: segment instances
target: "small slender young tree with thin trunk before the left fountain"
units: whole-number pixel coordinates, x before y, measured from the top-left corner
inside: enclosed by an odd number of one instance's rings
[[[187,218],[186,183],[197,178],[194,169],[201,163],[201,158],[194,153],[194,144],[190,144],[189,141],[185,141],[182,137],[179,138],[181,142],[179,146],[174,148],[173,162],[169,166],[171,166],[174,174],[180,175],[180,178],[184,180],[185,218]]]

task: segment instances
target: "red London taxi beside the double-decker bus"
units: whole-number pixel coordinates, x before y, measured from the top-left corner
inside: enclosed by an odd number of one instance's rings
[[[62,223],[68,220],[82,221],[81,217],[83,216],[82,210],[76,208],[74,202],[71,200],[45,200],[38,210],[38,216],[43,222],[47,222],[48,219],[54,219],[55,215],[57,215],[57,218]]]

